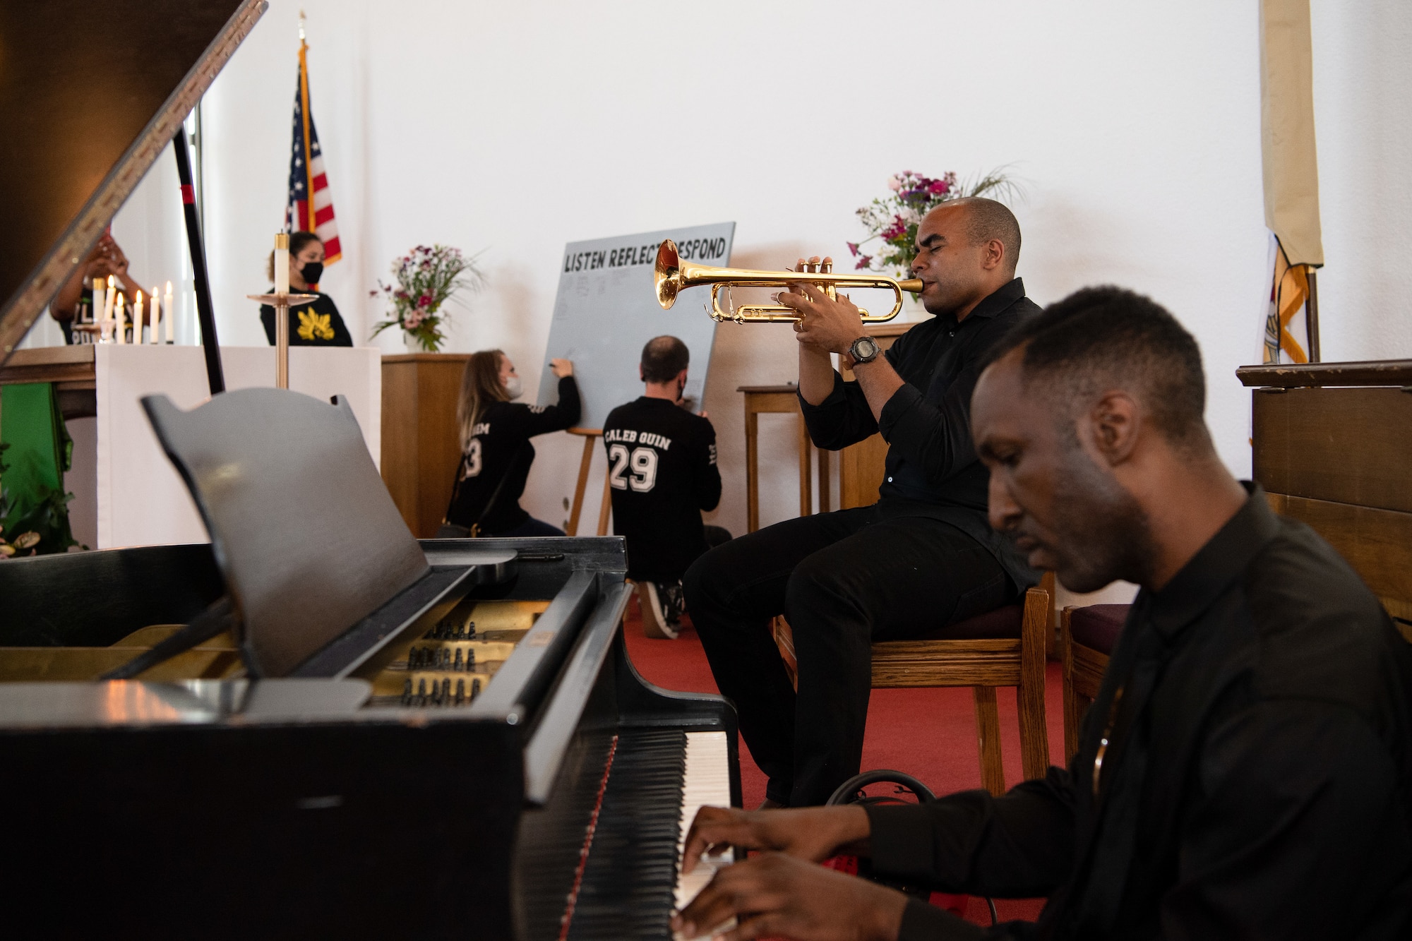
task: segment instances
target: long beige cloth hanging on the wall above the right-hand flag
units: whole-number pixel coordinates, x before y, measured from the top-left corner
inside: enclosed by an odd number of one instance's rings
[[[1265,225],[1289,264],[1323,264],[1309,0],[1261,0],[1260,129]]]

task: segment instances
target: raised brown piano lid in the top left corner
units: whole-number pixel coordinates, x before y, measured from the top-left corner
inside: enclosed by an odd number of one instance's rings
[[[0,4],[0,365],[267,6]]]

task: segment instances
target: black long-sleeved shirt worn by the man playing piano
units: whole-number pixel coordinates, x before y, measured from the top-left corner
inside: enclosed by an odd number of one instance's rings
[[[909,901],[901,938],[1412,937],[1412,646],[1251,490],[1138,593],[1067,771],[868,808],[881,872],[1049,896],[988,930]]]

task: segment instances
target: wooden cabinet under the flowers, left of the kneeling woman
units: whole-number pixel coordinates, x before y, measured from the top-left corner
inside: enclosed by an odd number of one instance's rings
[[[417,538],[436,535],[460,462],[456,400],[470,353],[383,357],[383,482]]]

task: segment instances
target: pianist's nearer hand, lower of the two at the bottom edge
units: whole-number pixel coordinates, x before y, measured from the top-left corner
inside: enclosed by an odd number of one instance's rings
[[[672,931],[695,938],[734,916],[736,928],[720,935],[726,941],[894,941],[905,907],[907,896],[875,882],[762,853],[717,872],[672,918]]]

